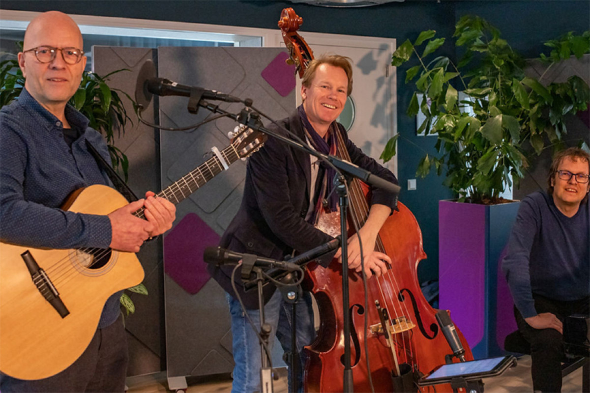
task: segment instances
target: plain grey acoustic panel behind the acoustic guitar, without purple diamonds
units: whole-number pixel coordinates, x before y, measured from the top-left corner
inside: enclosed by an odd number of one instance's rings
[[[133,97],[137,74],[146,60],[156,59],[156,49],[95,46],[93,71],[108,77],[108,84]],[[160,191],[159,131],[139,123],[133,105],[123,93],[119,93],[131,118],[124,130],[115,133],[115,146],[129,158],[129,181],[127,184],[138,197],[146,191]],[[153,123],[153,104],[144,111],[143,117]],[[120,133],[118,133],[120,131]],[[145,270],[143,283],[149,295],[129,293],[136,306],[133,315],[125,318],[128,333],[130,362],[127,375],[143,375],[162,371],[164,359],[164,310],[163,310],[163,259],[162,239],[146,243],[139,253]]]

